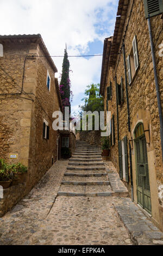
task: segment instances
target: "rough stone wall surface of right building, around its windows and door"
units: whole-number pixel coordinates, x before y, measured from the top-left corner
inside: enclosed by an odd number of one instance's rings
[[[131,10],[132,1],[128,7],[127,20],[124,24],[124,31],[126,30],[128,17]],[[155,45],[155,57],[158,69],[159,86],[161,101],[163,102],[163,86],[162,86],[162,57],[159,57],[159,44],[163,42],[162,33],[162,20],[160,16],[153,17],[152,30],[153,30],[153,40]],[[124,31],[122,35],[124,34]],[[129,96],[129,109],[130,109],[130,125],[131,125],[131,137],[134,138],[134,129],[137,123],[143,122],[147,124],[150,132],[150,143],[147,143],[148,151],[148,161],[149,161],[149,181],[151,186],[151,200],[152,200],[152,215],[154,220],[159,223],[160,227],[163,227],[161,223],[161,203],[158,200],[158,188],[163,184],[163,166],[161,157],[161,143],[160,143],[160,121],[158,113],[158,105],[156,99],[156,89],[154,81],[154,71],[153,62],[151,55],[151,44],[149,40],[148,32],[148,21],[145,19],[145,11],[143,7],[143,1],[135,1],[131,18],[129,21],[128,30],[126,33],[126,39],[124,41],[126,59],[128,54],[130,54],[132,41],[134,36],[137,38],[137,50],[139,53],[139,63],[140,66],[136,71],[136,74],[131,81],[130,86],[128,86],[128,96]],[[123,36],[122,36],[123,39]],[[122,46],[122,40],[120,47]],[[119,49],[120,51],[120,49]],[[118,106],[118,122],[119,122],[119,132],[120,140],[125,136],[128,137],[128,113],[127,113],[127,101],[126,101],[126,84],[124,76],[124,64],[123,64],[123,54],[118,54],[116,59],[115,67],[109,67],[108,74],[106,77],[106,87],[112,82],[112,99],[108,101],[109,111],[111,114],[115,115],[115,137],[116,143],[111,147],[111,160],[114,166],[117,167],[119,172],[118,163],[118,140],[117,140],[117,112],[116,112],[116,84],[115,84],[115,71],[117,76],[117,83],[120,84],[121,77],[124,81],[124,103]],[[106,88],[104,93],[104,102],[106,103]],[[163,106],[162,106],[163,107]],[[105,104],[106,109],[106,104]],[[128,155],[129,155],[129,145],[128,145]],[[130,163],[129,159],[128,162]],[[132,150],[132,162],[133,162],[133,182],[134,182],[134,200],[137,202],[136,194],[136,167],[135,167],[135,149]],[[130,178],[130,166],[129,166],[129,178]],[[124,183],[130,191],[130,183]],[[159,205],[160,203],[160,205]],[[159,214],[160,209],[160,214]]]

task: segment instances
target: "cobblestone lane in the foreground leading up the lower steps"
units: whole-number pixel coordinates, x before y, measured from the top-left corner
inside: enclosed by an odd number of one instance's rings
[[[70,162],[55,162],[0,218],[0,245],[162,244],[163,234],[128,198],[111,162],[82,172]]]

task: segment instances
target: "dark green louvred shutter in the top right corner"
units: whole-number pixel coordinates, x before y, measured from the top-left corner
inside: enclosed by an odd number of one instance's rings
[[[144,0],[144,5],[146,19],[163,13],[162,0]]]

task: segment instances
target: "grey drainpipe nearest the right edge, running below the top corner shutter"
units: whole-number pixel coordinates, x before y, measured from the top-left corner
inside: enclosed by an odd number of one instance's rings
[[[158,109],[159,109],[159,118],[160,118],[160,134],[161,134],[161,149],[162,149],[162,161],[163,161],[163,118],[162,118],[162,108],[161,108],[161,99],[160,99],[160,91],[159,91],[158,73],[157,73],[156,62],[155,62],[155,53],[154,53],[154,44],[153,44],[153,35],[152,35],[152,26],[151,26],[150,16],[148,17],[148,28],[149,28],[149,36],[150,36],[150,41],[151,41],[151,51],[152,51],[156,95],[157,95],[157,100],[158,100]]]

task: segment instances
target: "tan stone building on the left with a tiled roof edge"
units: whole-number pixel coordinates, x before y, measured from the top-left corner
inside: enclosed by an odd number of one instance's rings
[[[0,36],[0,45],[0,158],[28,167],[26,184],[5,191],[10,200],[4,193],[2,215],[60,158],[52,114],[62,103],[58,71],[40,34]]]

